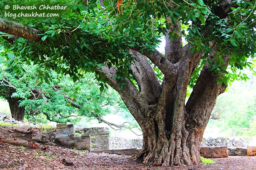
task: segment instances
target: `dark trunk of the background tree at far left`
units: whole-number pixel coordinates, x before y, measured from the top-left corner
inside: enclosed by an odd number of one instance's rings
[[[25,107],[19,106],[20,100],[21,100],[20,98],[12,98],[12,97],[9,97],[7,99],[10,106],[11,113],[12,113],[12,118],[14,118],[17,121],[23,121],[24,119]]]

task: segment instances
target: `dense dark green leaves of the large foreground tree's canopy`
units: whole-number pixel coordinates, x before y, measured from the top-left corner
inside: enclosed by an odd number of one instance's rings
[[[41,43],[18,39],[9,48],[15,55],[8,55],[8,63],[29,63],[32,60],[34,64],[46,69],[70,74],[74,80],[81,76],[81,69],[94,71],[96,78],[104,81],[104,77],[98,77],[100,73],[97,70],[107,62],[109,67],[114,65],[118,68],[117,78],[132,79],[129,70],[134,58],[128,49],[139,47],[141,51],[154,51],[160,37],[165,36],[165,30],[171,26],[171,23],[164,20],[167,15],[172,23],[179,20],[182,24],[182,30],[174,30],[170,39],[182,34],[187,42],[192,43],[193,52],[203,50],[206,54],[194,72],[190,86],[194,86],[206,61],[211,63],[211,71],[216,74],[226,73],[221,76],[219,83],[227,83],[237,78],[237,69],[250,67],[248,54],[254,56],[256,34],[251,28],[255,27],[255,3],[234,1],[237,6],[231,7],[230,18],[226,20],[210,10],[218,8],[218,2],[106,0],[105,8],[96,0],[66,1],[63,4],[68,6],[68,10],[64,11],[62,17],[8,18],[41,30],[43,36]],[[207,56],[216,42],[220,44],[221,53],[212,62]],[[229,71],[221,65],[224,62],[221,56],[227,54],[232,56],[229,59]],[[40,78],[42,80],[46,77]]]

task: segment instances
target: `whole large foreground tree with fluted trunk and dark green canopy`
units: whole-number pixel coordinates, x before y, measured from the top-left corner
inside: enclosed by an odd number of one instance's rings
[[[75,0],[63,17],[0,19],[0,31],[23,38],[4,37],[10,63],[32,59],[74,79],[94,71],[118,91],[143,131],[144,163],[198,164],[217,96],[255,53],[255,3]]]

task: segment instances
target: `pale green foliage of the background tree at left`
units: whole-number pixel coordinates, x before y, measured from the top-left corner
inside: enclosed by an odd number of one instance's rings
[[[95,117],[92,112],[102,117],[125,111],[119,95],[112,88],[100,91],[93,74],[84,74],[82,79],[73,82],[69,76],[54,71],[45,72],[37,65],[23,63],[17,73],[5,64],[3,59],[0,96],[4,99],[19,98],[19,105],[25,107],[25,116],[29,121],[76,122],[81,116],[86,116],[88,120]],[[40,82],[40,72],[44,72],[51,81],[46,78]]]

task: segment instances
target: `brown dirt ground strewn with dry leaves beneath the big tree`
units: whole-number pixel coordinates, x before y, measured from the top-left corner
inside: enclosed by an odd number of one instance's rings
[[[53,139],[52,130],[46,130],[43,134],[49,141]],[[1,142],[1,139],[8,137],[29,140],[31,134],[15,132],[12,127],[0,127],[0,169],[3,170],[256,170],[256,156],[212,159],[213,164],[161,167],[143,164],[131,156],[92,153],[59,146],[38,150]]]

